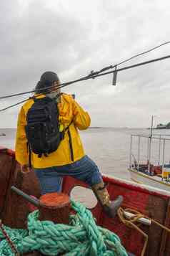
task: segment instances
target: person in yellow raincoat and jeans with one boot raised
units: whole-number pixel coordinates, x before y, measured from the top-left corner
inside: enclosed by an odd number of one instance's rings
[[[41,194],[61,191],[62,177],[73,176],[86,182],[94,191],[101,206],[109,217],[114,217],[123,198],[111,202],[108,191],[104,186],[101,174],[94,161],[86,156],[78,130],[85,130],[90,125],[89,114],[76,103],[72,95],[60,93],[59,77],[54,72],[44,72],[36,85],[36,99],[44,97],[55,100],[59,109],[59,124],[65,130],[64,138],[56,151],[41,157],[33,151],[28,152],[28,138],[26,136],[26,116],[34,105],[30,99],[22,106],[16,132],[16,161],[21,164],[21,172],[26,174],[29,169],[29,154],[31,167],[34,169],[41,186]],[[41,94],[39,92],[41,91]],[[42,94],[44,93],[44,94]],[[59,94],[60,93],[60,94]],[[59,96],[60,95],[60,96]],[[70,143],[71,141],[71,143]]]

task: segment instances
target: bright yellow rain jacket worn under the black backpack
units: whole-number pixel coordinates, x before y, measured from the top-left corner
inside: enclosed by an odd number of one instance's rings
[[[43,98],[44,95],[39,95],[36,98]],[[29,164],[29,153],[27,149],[27,139],[25,133],[26,126],[26,114],[34,104],[34,100],[28,100],[22,106],[16,131],[16,161],[21,163],[21,165]],[[59,122],[66,128],[73,120],[73,123],[69,126],[69,131],[71,133],[71,142],[74,153],[74,161],[82,158],[84,153],[84,148],[81,143],[79,136],[79,130],[85,130],[90,125],[90,117],[87,112],[81,108],[81,106],[76,103],[71,95],[62,94],[61,101],[58,103],[59,107]],[[65,164],[73,163],[71,161],[71,151],[69,146],[69,135],[66,131],[64,139],[59,144],[59,148],[50,153],[49,156],[38,157],[35,153],[31,153],[31,164],[34,168],[47,168],[51,166],[63,166]]]

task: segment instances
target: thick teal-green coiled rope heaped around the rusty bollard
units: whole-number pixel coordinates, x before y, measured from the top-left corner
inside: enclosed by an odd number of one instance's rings
[[[66,256],[127,256],[119,237],[96,225],[91,212],[79,202],[71,201],[76,211],[70,223],[54,224],[39,221],[39,211],[29,214],[28,230],[5,227],[7,234],[20,253],[38,250],[44,255]],[[0,255],[12,256],[11,247],[0,231]]]

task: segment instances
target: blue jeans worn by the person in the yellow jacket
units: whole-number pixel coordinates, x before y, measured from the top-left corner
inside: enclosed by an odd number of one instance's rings
[[[84,181],[89,186],[102,181],[96,163],[89,156],[84,156],[80,160],[64,166],[53,166],[44,169],[34,168],[34,171],[39,179],[41,194],[61,191],[63,176],[72,176],[75,179]]]

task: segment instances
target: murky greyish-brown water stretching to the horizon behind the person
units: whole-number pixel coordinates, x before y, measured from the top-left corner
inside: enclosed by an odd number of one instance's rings
[[[157,134],[170,135],[170,130],[154,130]],[[16,129],[0,129],[0,146],[14,149]],[[127,168],[129,166],[129,151],[131,134],[149,134],[147,129],[130,129],[130,128],[89,128],[86,131],[80,131],[81,140],[84,143],[86,154],[93,159],[101,173],[116,176],[123,179],[130,179]],[[168,138],[168,137],[167,137]],[[169,136],[170,138],[170,136]],[[145,138],[141,143],[141,158],[146,160],[147,141]],[[170,142],[170,141],[169,141]],[[132,151],[137,159],[138,137],[134,138]],[[163,146],[161,143],[161,158]],[[158,141],[152,145],[151,159],[159,161]],[[132,158],[134,160],[134,158]],[[142,159],[141,159],[142,160]],[[162,160],[162,159],[161,159]],[[165,161],[170,161],[170,143],[165,146]]]

